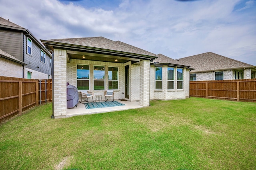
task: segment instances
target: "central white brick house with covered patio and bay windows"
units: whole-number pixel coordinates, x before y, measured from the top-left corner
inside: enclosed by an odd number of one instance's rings
[[[54,116],[66,116],[66,82],[78,90],[115,99],[139,101],[185,99],[189,96],[189,66],[104,37],[41,40],[53,56]],[[58,63],[58,64],[55,64]]]

